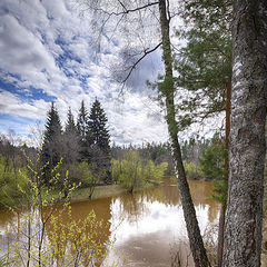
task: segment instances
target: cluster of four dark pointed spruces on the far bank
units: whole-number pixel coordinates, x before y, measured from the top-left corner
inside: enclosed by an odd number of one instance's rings
[[[83,167],[89,168],[91,176],[98,177],[98,180],[110,184],[110,135],[107,121],[98,99],[93,101],[90,111],[82,100],[77,121],[69,108],[62,129],[58,110],[51,103],[40,151],[41,162],[46,165],[43,182],[49,185],[51,170],[62,159],[62,168],[69,170],[72,181],[77,181],[79,169]]]

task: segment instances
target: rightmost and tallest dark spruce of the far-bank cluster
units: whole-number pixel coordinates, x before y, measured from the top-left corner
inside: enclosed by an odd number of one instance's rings
[[[98,171],[105,170],[105,174],[101,174],[101,178],[105,182],[110,182],[110,135],[107,122],[105,110],[101,108],[98,99],[96,99],[88,121],[90,161],[97,166]]]

